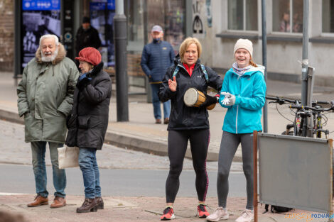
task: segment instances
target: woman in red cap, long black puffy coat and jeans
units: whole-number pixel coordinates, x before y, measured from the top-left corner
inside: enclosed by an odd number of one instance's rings
[[[80,148],[79,165],[85,187],[85,201],[77,213],[104,209],[99,184],[96,151],[102,149],[107,131],[112,80],[103,71],[101,54],[92,47],[79,52],[80,77],[74,92],[72,113],[68,118],[66,145]]]

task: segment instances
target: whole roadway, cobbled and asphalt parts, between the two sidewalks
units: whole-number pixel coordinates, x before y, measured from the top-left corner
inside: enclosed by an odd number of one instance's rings
[[[24,142],[24,126],[0,121],[0,193],[34,194],[35,182],[31,166],[30,143]],[[52,169],[48,148],[45,162],[48,165],[48,192],[53,194]],[[117,148],[104,144],[97,152],[100,167],[102,194],[105,196],[165,196],[168,175],[168,157]],[[217,196],[217,162],[207,162],[208,196]],[[66,192],[84,193],[79,168],[67,169]],[[195,172],[191,160],[185,159],[178,196],[196,196]],[[230,196],[246,196],[242,163],[232,164]]]

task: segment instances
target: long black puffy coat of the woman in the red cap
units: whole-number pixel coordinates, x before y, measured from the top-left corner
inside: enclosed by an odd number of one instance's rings
[[[89,74],[90,84],[74,92],[72,114],[68,117],[65,144],[79,148],[102,149],[107,131],[112,80],[99,63]],[[88,76],[88,75],[87,75]]]

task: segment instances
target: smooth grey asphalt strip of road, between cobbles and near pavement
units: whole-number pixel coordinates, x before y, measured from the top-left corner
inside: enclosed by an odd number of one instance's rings
[[[52,184],[52,168],[48,171],[48,192],[55,192]],[[70,195],[83,195],[84,187],[79,168],[66,170],[67,188]],[[104,196],[165,196],[168,170],[112,170],[100,169],[102,195]],[[217,172],[209,171],[208,197],[217,196]],[[32,166],[0,165],[0,193],[35,194]],[[196,196],[195,172],[185,170],[181,174],[178,196]],[[246,196],[244,174],[230,174],[229,196]]]

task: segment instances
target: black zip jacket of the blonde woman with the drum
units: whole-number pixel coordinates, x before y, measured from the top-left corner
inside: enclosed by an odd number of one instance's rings
[[[178,74],[176,74],[177,88],[176,91],[171,91],[168,88],[168,79],[173,79],[176,65],[180,67]],[[168,131],[210,127],[209,114],[205,106],[188,107],[185,106],[183,101],[183,95],[190,87],[194,87],[205,94],[207,93],[208,86],[220,91],[222,88],[222,78],[210,67],[205,67],[205,70],[208,72],[208,83],[200,68],[200,60],[196,62],[191,77],[180,60],[175,60],[175,65],[168,68],[158,93],[159,99],[162,102],[171,99],[171,115],[169,116]]]

